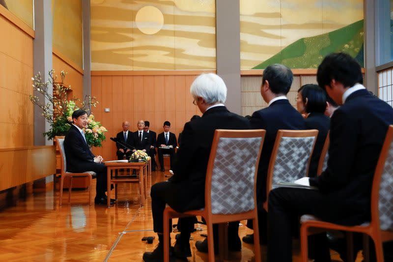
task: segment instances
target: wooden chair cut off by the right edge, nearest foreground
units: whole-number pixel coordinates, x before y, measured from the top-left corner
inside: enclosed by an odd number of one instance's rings
[[[371,189],[371,221],[358,226],[342,226],[319,220],[312,215],[301,218],[301,254],[302,261],[308,260],[308,236],[314,229],[340,230],[369,235],[375,244],[377,262],[384,261],[382,243],[393,240],[393,125],[389,126],[384,145],[379,156]],[[365,261],[368,261],[368,237],[364,238]]]

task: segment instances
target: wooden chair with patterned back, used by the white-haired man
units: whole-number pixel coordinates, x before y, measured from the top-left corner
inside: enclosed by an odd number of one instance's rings
[[[170,218],[205,218],[209,261],[214,261],[213,224],[253,219],[254,241],[259,243],[256,175],[265,133],[262,129],[215,131],[206,170],[204,208],[184,213],[178,213],[170,207],[164,210],[164,262],[169,261]],[[259,262],[260,246],[254,247],[255,261]],[[220,257],[223,252],[224,246],[221,245]]]

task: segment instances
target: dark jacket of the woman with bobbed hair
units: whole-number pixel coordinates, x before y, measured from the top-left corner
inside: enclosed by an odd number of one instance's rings
[[[323,145],[325,144],[326,136],[330,128],[330,118],[323,113],[311,113],[304,121],[306,123],[306,129],[318,130],[318,136],[316,138],[314,150],[312,151],[309,167],[309,177],[314,177],[318,170],[319,158],[321,157]]]

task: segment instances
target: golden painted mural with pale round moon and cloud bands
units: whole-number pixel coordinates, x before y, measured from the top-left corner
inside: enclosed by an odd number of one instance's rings
[[[215,0],[91,0],[92,70],[216,68]]]

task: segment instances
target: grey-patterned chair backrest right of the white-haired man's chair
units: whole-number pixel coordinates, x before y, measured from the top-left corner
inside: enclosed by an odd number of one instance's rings
[[[267,195],[279,182],[307,176],[318,130],[279,130],[267,172]]]

